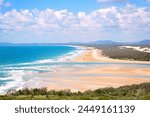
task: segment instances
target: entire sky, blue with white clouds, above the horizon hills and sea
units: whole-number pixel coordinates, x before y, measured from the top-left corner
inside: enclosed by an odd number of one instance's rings
[[[0,42],[150,39],[150,0],[0,0]]]

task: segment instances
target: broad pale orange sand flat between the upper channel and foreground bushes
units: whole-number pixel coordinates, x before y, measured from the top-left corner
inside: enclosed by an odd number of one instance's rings
[[[42,80],[47,82],[49,90],[70,89],[74,92],[150,82],[150,68],[128,68],[119,65],[71,69],[58,67],[55,73],[43,73],[40,77],[44,77]]]

